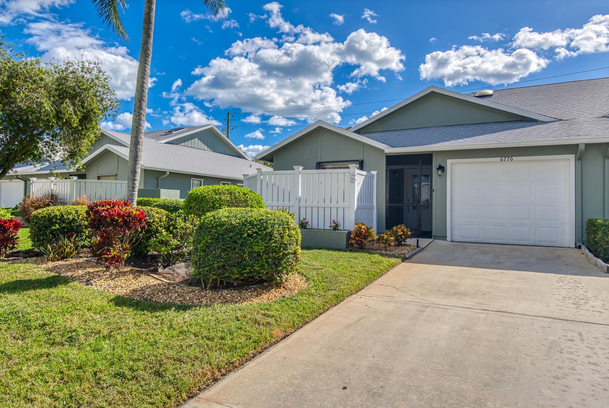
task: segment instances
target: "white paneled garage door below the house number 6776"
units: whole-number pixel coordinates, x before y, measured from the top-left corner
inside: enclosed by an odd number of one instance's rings
[[[448,161],[448,240],[575,245],[574,157]]]

